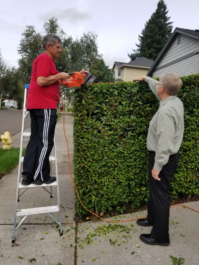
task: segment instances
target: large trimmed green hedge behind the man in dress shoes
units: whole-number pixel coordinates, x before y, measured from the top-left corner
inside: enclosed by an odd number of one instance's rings
[[[199,74],[182,77],[185,130],[171,196],[199,193]],[[91,211],[136,208],[149,198],[147,132],[158,100],[146,82],[75,89],[74,174]],[[132,128],[132,129],[130,129]],[[86,213],[76,196],[76,211]]]

